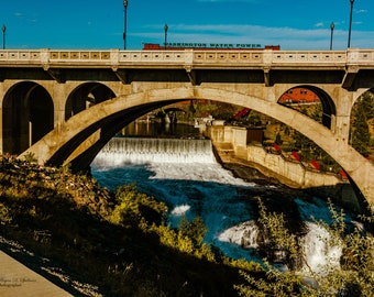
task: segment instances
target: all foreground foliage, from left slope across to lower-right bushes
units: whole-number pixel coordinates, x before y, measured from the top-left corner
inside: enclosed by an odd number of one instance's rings
[[[373,295],[373,237],[358,228],[348,232],[345,215],[332,204],[329,230],[343,246],[342,268],[311,275],[311,286],[297,265],[280,272],[267,261],[261,265],[219,254],[204,243],[207,229],[199,217],[182,218],[179,229],[170,229],[166,206],[134,185],[120,187],[113,201],[87,176],[10,156],[0,165],[0,235],[96,284],[105,296]],[[264,246],[285,251],[295,264],[300,251],[286,218],[268,213],[261,201],[258,209]],[[373,222],[374,216],[365,220]]]

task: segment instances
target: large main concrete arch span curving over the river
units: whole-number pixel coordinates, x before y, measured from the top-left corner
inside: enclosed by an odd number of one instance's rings
[[[266,97],[274,97],[266,94]],[[374,166],[361,156],[346,139],[326,124],[268,100],[235,89],[211,86],[183,86],[150,90],[133,90],[97,103],[67,121],[32,145],[22,155],[34,154],[41,163],[62,165],[72,163],[77,168],[89,166],[102,146],[124,125],[154,109],[187,99],[211,99],[233,103],[267,114],[299,131],[331,157],[349,174],[369,204],[374,206]],[[332,114],[333,116],[333,114]],[[344,133],[345,134],[345,133]]]

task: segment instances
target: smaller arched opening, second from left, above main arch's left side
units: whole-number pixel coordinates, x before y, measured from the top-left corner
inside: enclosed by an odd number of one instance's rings
[[[65,120],[114,97],[114,92],[101,82],[85,82],[76,87],[68,96],[65,103]]]

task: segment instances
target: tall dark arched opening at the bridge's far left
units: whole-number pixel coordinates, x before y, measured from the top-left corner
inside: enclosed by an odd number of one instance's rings
[[[21,154],[54,127],[54,105],[48,91],[34,81],[12,86],[2,102],[4,153]]]

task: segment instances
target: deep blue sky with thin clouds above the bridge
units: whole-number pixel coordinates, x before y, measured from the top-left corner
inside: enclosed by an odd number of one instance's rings
[[[127,48],[244,43],[345,50],[350,0],[129,0]],[[374,48],[374,0],[355,0],[351,47]],[[123,48],[122,0],[0,0],[7,48]],[[1,38],[2,44],[2,38]]]

